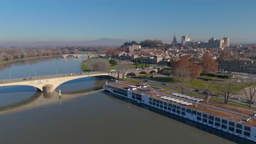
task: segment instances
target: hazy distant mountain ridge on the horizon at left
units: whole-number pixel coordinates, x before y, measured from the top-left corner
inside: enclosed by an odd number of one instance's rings
[[[0,46],[121,46],[126,39],[111,39],[101,38],[97,40],[82,40],[82,41],[35,41],[35,42],[15,42],[0,41]]]

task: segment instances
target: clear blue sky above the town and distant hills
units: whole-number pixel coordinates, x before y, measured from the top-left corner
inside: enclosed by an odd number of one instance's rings
[[[229,36],[256,42],[256,1],[1,0],[0,41]]]

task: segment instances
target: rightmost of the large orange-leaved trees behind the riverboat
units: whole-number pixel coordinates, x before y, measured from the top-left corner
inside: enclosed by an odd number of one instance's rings
[[[202,73],[216,73],[218,71],[218,65],[219,63],[212,58],[212,56],[209,53],[205,53],[202,57],[201,67],[202,67]]]

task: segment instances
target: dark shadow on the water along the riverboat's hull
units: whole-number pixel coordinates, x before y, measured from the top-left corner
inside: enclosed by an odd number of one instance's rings
[[[173,115],[172,113],[168,113],[168,112],[156,109],[156,108],[148,106],[148,105],[138,104],[136,101],[120,97],[119,95],[116,95],[116,94],[113,94],[113,93],[110,93],[110,92],[107,92],[107,91],[103,91],[102,93],[109,95],[110,98],[113,97],[115,99],[123,100],[123,101],[125,101],[127,103],[130,103],[130,104],[142,107],[143,109],[146,109],[146,110],[158,113],[159,115],[171,118],[171,119],[173,119],[173,120],[175,120],[177,122],[181,122],[181,123],[190,125],[191,127],[200,129],[202,131],[206,131],[207,133],[210,133],[210,134],[213,134],[213,135],[217,135],[219,137],[222,137],[223,139],[226,139],[226,140],[229,140],[229,141],[232,141],[232,142],[235,142],[235,143],[241,143],[241,144],[251,144],[251,143],[254,143],[252,141],[243,139],[241,137],[225,133],[224,131],[220,131],[218,129],[214,129],[214,128],[208,127],[206,125],[203,125],[203,124],[200,124],[200,123],[197,123],[197,122],[194,122],[194,121],[190,121],[189,119]]]

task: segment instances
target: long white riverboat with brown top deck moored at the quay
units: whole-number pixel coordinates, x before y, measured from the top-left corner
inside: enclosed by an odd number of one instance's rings
[[[173,93],[147,83],[106,82],[103,88],[121,97],[256,142],[254,111]]]

